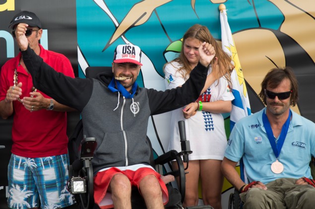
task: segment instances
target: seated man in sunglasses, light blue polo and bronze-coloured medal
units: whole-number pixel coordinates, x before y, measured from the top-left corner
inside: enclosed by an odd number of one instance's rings
[[[266,105],[241,119],[231,132],[222,171],[239,191],[244,209],[311,209],[315,181],[315,124],[290,110],[298,101],[298,81],[290,68],[270,70],[259,96]],[[235,170],[243,159],[248,184]]]

